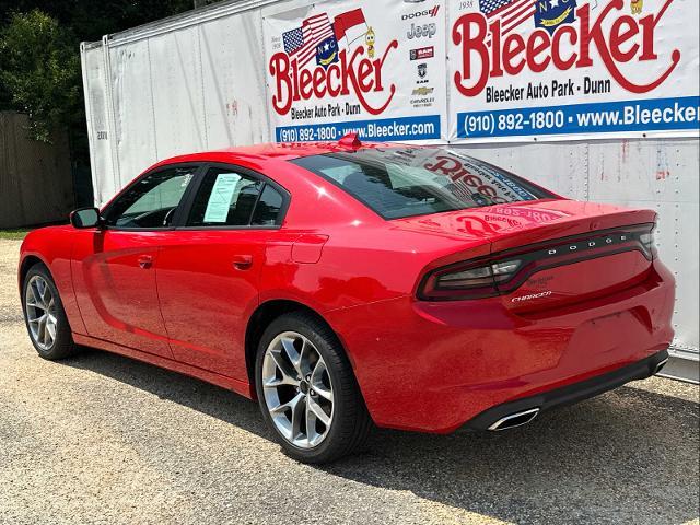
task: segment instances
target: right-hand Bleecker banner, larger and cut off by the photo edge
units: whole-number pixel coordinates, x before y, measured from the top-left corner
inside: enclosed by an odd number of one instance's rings
[[[451,141],[697,135],[699,3],[451,0]]]

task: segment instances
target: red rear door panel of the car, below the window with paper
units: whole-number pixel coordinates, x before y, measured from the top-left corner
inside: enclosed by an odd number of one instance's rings
[[[247,381],[245,329],[258,304],[273,230],[178,230],[158,261],[161,311],[176,360]]]

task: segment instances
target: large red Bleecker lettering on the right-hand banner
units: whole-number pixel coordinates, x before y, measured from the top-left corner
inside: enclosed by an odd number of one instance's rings
[[[620,86],[631,93],[648,93],[661,85],[676,68],[680,61],[678,49],[672,52],[665,71],[648,83],[635,83],[625,75],[619,66],[632,60],[658,60],[654,32],[673,2],[666,0],[656,13],[642,18],[615,12],[626,8],[626,0],[610,0],[594,13],[585,3],[576,10],[575,24],[561,25],[553,35],[537,28],[527,39],[517,32],[504,36],[500,20],[489,24],[481,13],[466,13],[452,30],[454,44],[462,48],[462,69],[454,75],[455,86],[465,96],[476,96],[486,89],[490,78],[514,77],[525,68],[535,73],[552,67],[559,71],[588,68],[599,55]],[[597,14],[595,21],[591,19],[592,14]],[[604,22],[606,27],[609,25],[608,31],[604,31]],[[487,44],[489,40],[490,46]],[[561,91],[559,96],[569,94],[571,90],[565,84],[560,88],[565,93]]]

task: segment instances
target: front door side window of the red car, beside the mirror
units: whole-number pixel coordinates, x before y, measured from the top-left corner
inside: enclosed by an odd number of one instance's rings
[[[109,206],[105,223],[116,228],[168,228],[197,166],[161,170],[141,177]]]

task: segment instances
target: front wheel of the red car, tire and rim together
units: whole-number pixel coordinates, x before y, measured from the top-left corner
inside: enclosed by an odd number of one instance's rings
[[[77,352],[63,303],[46,266],[36,264],[22,283],[22,311],[32,345],[49,361]]]

